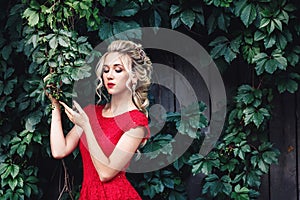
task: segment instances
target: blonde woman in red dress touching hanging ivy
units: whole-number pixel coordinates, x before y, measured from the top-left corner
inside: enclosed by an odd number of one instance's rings
[[[112,42],[96,68],[97,94],[110,95],[106,105],[75,110],[49,96],[54,107],[50,128],[55,158],[69,155],[79,144],[83,162],[80,199],[141,199],[125,176],[125,169],[138,147],[149,137],[146,108],[152,63],[141,45]],[[104,88],[105,87],[105,88]],[[60,105],[74,123],[64,136]]]

